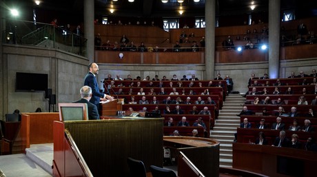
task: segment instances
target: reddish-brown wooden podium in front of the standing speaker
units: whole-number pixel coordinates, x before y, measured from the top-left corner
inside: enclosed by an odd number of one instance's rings
[[[116,115],[118,110],[122,110],[123,99],[114,99],[111,102],[100,103],[99,115]]]

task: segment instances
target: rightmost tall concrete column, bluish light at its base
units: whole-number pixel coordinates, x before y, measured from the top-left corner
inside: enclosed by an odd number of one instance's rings
[[[269,0],[269,78],[279,78],[280,0]]]

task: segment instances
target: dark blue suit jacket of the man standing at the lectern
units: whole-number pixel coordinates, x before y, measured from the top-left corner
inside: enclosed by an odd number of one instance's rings
[[[99,108],[100,98],[104,97],[105,94],[99,92],[98,82],[96,80],[96,77],[94,77],[93,73],[89,72],[85,76],[85,82],[84,82],[83,85],[84,86],[90,86],[92,88],[92,98],[90,99],[90,103],[96,105],[97,108]]]

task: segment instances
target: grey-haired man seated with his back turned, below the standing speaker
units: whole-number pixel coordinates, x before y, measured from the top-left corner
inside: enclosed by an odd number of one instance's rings
[[[88,106],[88,118],[92,119],[99,119],[99,113],[97,106],[90,103],[89,100],[92,98],[92,88],[90,86],[83,86],[81,87],[81,99],[74,103],[85,103]]]

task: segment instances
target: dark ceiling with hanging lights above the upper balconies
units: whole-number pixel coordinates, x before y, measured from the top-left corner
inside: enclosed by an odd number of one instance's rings
[[[48,16],[74,16],[83,18],[84,0],[41,0],[40,5],[35,5],[34,0],[2,0],[8,7],[18,7],[20,9],[37,9],[41,17]],[[168,0],[162,3],[161,0],[134,0],[133,3],[127,0],[94,0],[95,16],[139,16],[139,17],[175,17],[175,16],[205,16],[205,1],[195,3],[193,0],[184,0],[178,3],[177,0]],[[269,0],[216,0],[216,16],[230,16],[237,14],[261,13],[268,11]],[[251,10],[250,5],[255,5]],[[110,8],[114,13],[110,13]],[[281,0],[282,10],[294,10],[298,16],[316,16],[316,0]],[[30,13],[28,11],[28,14]],[[183,10],[183,14],[178,14]],[[45,14],[46,13],[46,14]],[[53,13],[53,14],[52,14]],[[59,17],[59,19],[62,19]]]

